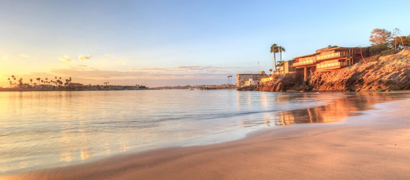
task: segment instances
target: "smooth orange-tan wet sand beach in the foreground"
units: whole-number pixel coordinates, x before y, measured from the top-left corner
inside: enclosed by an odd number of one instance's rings
[[[0,179],[410,179],[410,99],[341,122],[294,124],[209,146],[125,154]]]

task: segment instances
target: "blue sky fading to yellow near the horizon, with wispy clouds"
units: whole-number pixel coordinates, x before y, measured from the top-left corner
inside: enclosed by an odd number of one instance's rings
[[[410,1],[0,1],[0,86],[55,76],[83,84],[196,85],[268,72],[327,45],[410,34]],[[276,60],[279,58],[276,56]],[[259,66],[258,66],[259,62]],[[235,79],[234,79],[235,80]]]

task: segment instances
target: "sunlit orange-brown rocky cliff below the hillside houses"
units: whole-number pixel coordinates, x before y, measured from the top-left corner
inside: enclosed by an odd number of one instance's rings
[[[303,74],[278,76],[259,86],[241,87],[253,91],[320,91],[320,92],[372,92],[410,89],[410,49],[396,55],[380,57],[374,62],[360,62],[327,73],[311,72],[308,84]]]

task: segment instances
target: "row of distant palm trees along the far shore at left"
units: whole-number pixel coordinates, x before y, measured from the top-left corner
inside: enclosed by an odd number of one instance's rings
[[[11,76],[11,78],[7,78],[7,80],[9,81],[9,83],[10,83],[10,88],[11,87],[17,87],[17,86],[22,86],[23,85],[23,78],[20,78],[18,81],[17,81],[17,83],[15,82],[16,81],[16,77],[14,76],[14,75],[12,75]],[[70,78],[68,78],[68,79],[66,79],[65,80],[65,83],[61,80],[61,77],[59,77],[59,78],[57,78],[57,76],[55,76],[54,77],[54,80],[53,79],[48,79],[48,78],[44,78],[44,79],[41,79],[41,78],[36,78],[35,80],[37,80],[39,83],[33,83],[33,79],[30,79],[30,85],[40,85],[40,84],[51,84],[51,85],[54,85],[54,86],[68,86],[68,84],[70,84],[71,83],[71,77]]]

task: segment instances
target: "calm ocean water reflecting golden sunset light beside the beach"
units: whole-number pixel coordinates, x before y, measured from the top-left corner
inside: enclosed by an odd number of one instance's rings
[[[0,92],[0,174],[206,145],[264,127],[339,121],[369,103],[402,97],[235,90]]]

